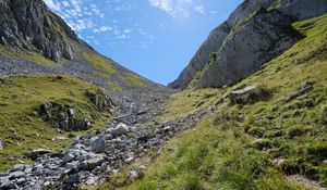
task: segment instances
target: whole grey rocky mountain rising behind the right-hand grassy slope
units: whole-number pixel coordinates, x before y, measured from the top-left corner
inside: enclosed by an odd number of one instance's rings
[[[327,12],[324,0],[245,0],[197,50],[172,88],[232,85],[292,47],[301,35],[292,23]]]

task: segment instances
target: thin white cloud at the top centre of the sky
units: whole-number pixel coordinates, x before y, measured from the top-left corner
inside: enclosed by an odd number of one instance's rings
[[[187,7],[192,3],[192,0],[149,0],[149,3],[172,17],[189,17]]]

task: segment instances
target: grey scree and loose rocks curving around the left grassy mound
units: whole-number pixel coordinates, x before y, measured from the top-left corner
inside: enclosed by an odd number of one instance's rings
[[[47,67],[0,58],[0,74],[70,74],[100,87],[106,83],[100,77],[88,80],[85,74],[93,69],[87,64],[81,65],[76,68],[73,63],[65,63]],[[104,130],[76,137],[74,143],[62,152],[46,149],[28,152],[27,156],[35,160],[35,164],[19,164],[8,173],[0,173],[0,189],[74,189],[105,181],[110,174],[119,173],[135,159],[158,150],[175,132],[194,126],[210,112],[199,110],[179,119],[155,122],[154,117],[161,111],[160,105],[171,92],[157,86],[130,88],[122,94],[112,93],[117,111]],[[145,127],[148,122],[154,125]],[[53,138],[55,143],[62,138]],[[142,169],[135,170],[134,177]]]

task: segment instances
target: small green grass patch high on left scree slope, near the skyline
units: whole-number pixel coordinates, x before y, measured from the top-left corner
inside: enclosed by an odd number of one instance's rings
[[[108,59],[94,52],[83,52],[82,55],[83,59],[85,59],[96,69],[100,72],[100,75],[105,77],[110,77],[116,73],[116,66]]]

